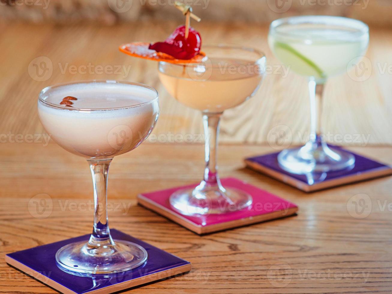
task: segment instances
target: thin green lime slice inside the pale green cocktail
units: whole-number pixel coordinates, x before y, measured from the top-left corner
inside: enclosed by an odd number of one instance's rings
[[[275,42],[275,54],[278,58],[291,68],[304,76],[313,76],[315,78],[325,78],[326,74],[312,60],[299,53],[290,45],[282,42]]]

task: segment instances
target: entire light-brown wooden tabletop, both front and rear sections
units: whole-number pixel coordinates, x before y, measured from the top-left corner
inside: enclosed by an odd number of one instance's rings
[[[36,114],[43,87],[93,78],[143,82],[161,93],[162,112],[154,136],[111,165],[109,202],[119,208],[109,211],[110,226],[193,265],[188,274],[132,293],[391,292],[392,177],[306,194],[244,168],[243,158],[274,151],[266,138],[275,126],[289,126],[293,143],[299,142],[297,134],[307,131],[306,82],[294,74],[286,78],[270,74],[254,98],[225,113],[219,163],[222,177],[237,177],[296,203],[298,216],[198,236],[136,205],[138,193],[197,182],[203,171],[200,114],[167,94],[154,62],[117,51],[117,45],[125,42],[159,40],[175,26],[0,25],[0,134],[7,135],[0,144],[0,293],[55,293],[8,267],[4,254],[91,232],[93,191],[87,163],[55,143],[47,145],[43,137],[36,143],[31,138],[44,133]],[[277,65],[267,46],[267,27],[200,23],[198,29],[204,32],[205,42],[258,47],[266,52],[270,65]],[[323,121],[333,134],[370,134],[366,147],[350,149],[392,164],[391,149],[385,146],[392,144],[391,76],[377,69],[377,63],[392,64],[390,34],[389,29],[371,30],[367,56],[374,70],[365,82],[347,74],[331,79]],[[34,76],[33,65],[40,56],[52,64],[52,73],[42,82]],[[89,64],[92,72],[83,73],[83,66]],[[111,65],[113,73],[100,73],[99,65]],[[114,73],[122,65],[125,69]],[[175,134],[180,137],[173,143]],[[183,143],[185,134],[192,135],[192,143]],[[53,211],[38,219],[28,203],[42,193],[53,200]],[[351,198],[357,194],[371,199],[370,214],[363,219],[352,216]]]

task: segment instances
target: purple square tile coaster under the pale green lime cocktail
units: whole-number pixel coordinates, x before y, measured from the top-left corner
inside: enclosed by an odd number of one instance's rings
[[[334,146],[336,149],[342,149]],[[345,150],[350,152],[348,150]],[[350,152],[355,156],[355,166],[333,172],[317,172],[312,174],[292,174],[283,170],[278,163],[278,154],[270,153],[245,159],[247,167],[289,184],[305,192],[328,189],[339,185],[370,180],[392,174],[392,168],[380,162]]]

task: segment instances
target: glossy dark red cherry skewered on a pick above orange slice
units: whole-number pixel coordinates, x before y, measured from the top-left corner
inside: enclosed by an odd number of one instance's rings
[[[188,38],[185,38],[185,25],[181,25],[164,42],[151,44],[149,49],[169,54],[176,59],[187,60],[199,54],[200,47],[199,32],[189,27]]]

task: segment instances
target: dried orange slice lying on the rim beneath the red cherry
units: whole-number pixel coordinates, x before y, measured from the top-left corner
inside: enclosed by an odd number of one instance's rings
[[[164,61],[175,64],[184,64],[184,63],[199,63],[202,62],[205,58],[205,53],[200,52],[194,58],[191,59],[176,59],[173,56],[156,52],[155,50],[149,49],[150,43],[148,42],[132,42],[129,44],[124,44],[119,47],[120,51],[143,59],[155,60],[155,61]]]

